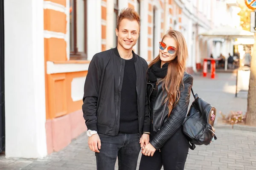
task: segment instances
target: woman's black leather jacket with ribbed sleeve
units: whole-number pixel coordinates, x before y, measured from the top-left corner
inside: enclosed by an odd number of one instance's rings
[[[153,106],[153,129],[157,134],[149,142],[159,150],[182,126],[189,106],[190,92],[193,85],[193,77],[184,73],[183,84],[180,86],[180,99],[177,105],[172,109],[168,117],[168,103],[163,103],[167,94],[163,91],[162,81],[157,79],[157,95]],[[148,82],[148,99],[153,91],[154,84]]]

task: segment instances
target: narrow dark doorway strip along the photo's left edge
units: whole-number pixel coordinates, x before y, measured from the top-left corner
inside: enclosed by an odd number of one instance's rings
[[[3,0],[0,0],[0,153],[5,149],[4,112],[4,18]]]

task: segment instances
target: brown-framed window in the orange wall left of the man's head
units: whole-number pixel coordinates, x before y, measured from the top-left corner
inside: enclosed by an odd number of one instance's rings
[[[87,59],[87,0],[70,0],[70,59]]]

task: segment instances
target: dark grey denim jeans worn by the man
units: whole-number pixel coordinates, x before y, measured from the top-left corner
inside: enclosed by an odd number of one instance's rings
[[[114,170],[118,157],[119,170],[136,170],[140,153],[140,136],[119,133],[117,136],[99,134],[100,153],[95,153],[97,170]]]

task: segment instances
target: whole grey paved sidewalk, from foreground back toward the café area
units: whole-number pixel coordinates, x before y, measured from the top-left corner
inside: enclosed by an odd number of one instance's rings
[[[217,113],[245,112],[247,109],[247,93],[235,97],[236,74],[217,73],[214,80],[194,76],[193,90],[215,106]],[[217,119],[219,117],[217,114]],[[185,169],[256,170],[256,132],[221,129],[218,124],[215,122],[218,139],[209,146],[189,150]],[[64,150],[44,159],[6,159],[0,155],[0,170],[96,170],[96,160],[84,133]]]

